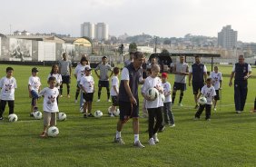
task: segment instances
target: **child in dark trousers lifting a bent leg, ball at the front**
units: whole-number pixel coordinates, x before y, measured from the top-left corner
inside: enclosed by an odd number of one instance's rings
[[[206,104],[200,104],[197,112],[194,115],[194,120],[199,120],[200,115],[202,114],[204,108],[205,108],[205,120],[211,121],[211,110],[212,110],[212,101],[214,96],[216,95],[215,89],[212,86],[212,79],[207,78],[206,79],[206,85],[202,87],[201,93],[199,93],[199,96],[197,97],[197,102],[200,98],[200,96],[204,96],[207,100]]]

